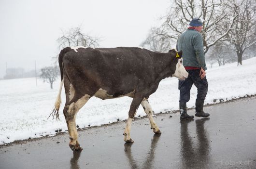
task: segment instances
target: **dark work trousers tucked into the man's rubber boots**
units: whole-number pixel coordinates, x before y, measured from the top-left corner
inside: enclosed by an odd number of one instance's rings
[[[185,80],[179,80],[180,102],[188,102],[190,99],[190,89],[193,84],[198,88],[197,99],[205,100],[208,91],[208,81],[199,77],[200,69],[186,70],[188,77]]]

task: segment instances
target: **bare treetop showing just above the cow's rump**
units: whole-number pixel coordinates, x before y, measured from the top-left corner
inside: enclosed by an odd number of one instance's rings
[[[71,28],[69,31],[62,31],[63,35],[57,39],[59,49],[71,46],[99,46],[100,38],[91,37],[81,31],[81,27]]]

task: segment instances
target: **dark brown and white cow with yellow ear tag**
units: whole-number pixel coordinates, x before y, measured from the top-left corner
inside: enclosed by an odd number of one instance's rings
[[[58,119],[60,94],[64,85],[66,103],[63,114],[72,151],[82,150],[75,119],[79,109],[92,96],[102,100],[122,96],[133,98],[124,130],[124,141],[133,143],[130,128],[139,105],[147,114],[153,132],[161,134],[147,99],[156,91],[163,78],[177,77],[184,80],[188,76],[182,64],[182,51],[176,50],[161,53],[135,47],[67,47],[59,53],[58,63],[61,82],[52,115]]]

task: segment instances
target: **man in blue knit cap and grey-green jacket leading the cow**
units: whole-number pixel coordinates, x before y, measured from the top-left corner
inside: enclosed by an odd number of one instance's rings
[[[183,65],[188,72],[188,78],[179,80],[180,90],[180,114],[181,120],[193,119],[186,112],[186,103],[190,99],[190,89],[193,84],[198,89],[196,99],[196,117],[209,117],[209,113],[203,111],[203,103],[208,91],[208,82],[205,77],[205,58],[203,40],[201,35],[202,22],[198,18],[191,20],[188,29],[180,35],[177,41],[177,50],[182,50]]]

